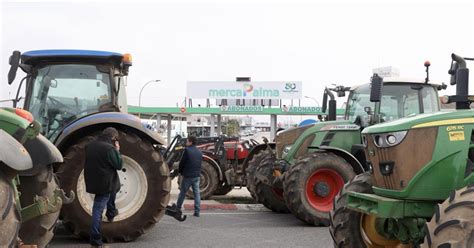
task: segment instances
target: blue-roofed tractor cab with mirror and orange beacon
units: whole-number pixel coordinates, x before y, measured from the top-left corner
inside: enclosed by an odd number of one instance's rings
[[[20,67],[26,76],[24,109],[54,139],[74,120],[98,112],[126,112],[129,54],[85,50],[38,50],[10,57],[9,83]],[[20,94],[21,83],[17,93]]]

